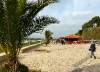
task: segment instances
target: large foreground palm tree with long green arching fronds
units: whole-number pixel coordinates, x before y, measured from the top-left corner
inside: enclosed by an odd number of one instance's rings
[[[37,14],[46,6],[58,0],[0,0],[0,48],[5,52],[8,62],[18,62],[23,40],[47,25],[59,23],[50,16]]]

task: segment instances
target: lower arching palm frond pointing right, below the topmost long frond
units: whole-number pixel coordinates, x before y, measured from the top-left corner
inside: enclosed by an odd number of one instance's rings
[[[54,17],[49,17],[49,16],[36,17],[30,24],[26,26],[25,25],[21,26],[22,29],[21,34],[24,36],[26,35],[27,37],[27,35],[43,30],[47,25],[54,23],[59,23],[59,21]]]

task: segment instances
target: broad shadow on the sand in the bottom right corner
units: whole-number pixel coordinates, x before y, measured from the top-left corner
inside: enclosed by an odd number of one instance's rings
[[[100,72],[100,65],[95,64],[95,65],[86,66],[83,68],[76,68],[71,72]]]

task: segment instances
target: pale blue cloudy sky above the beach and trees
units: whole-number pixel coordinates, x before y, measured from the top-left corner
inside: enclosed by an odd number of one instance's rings
[[[82,25],[95,16],[100,16],[100,0],[59,0],[39,12],[38,16],[48,15],[60,21],[46,26],[42,33],[33,33],[31,38],[44,38],[45,30],[53,32],[53,38],[75,34]]]

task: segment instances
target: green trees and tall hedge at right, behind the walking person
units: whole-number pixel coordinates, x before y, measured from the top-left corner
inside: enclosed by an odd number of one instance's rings
[[[76,35],[82,36],[84,40],[100,40],[100,17],[95,16],[90,21],[82,25],[82,30],[79,30]]]

